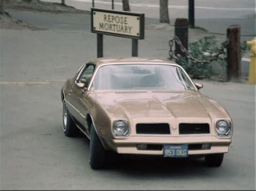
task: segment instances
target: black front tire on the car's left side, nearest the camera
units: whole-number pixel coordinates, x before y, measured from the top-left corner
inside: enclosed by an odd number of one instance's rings
[[[103,168],[106,163],[106,150],[103,147],[102,142],[100,141],[92,124],[91,124],[89,163],[92,169]]]

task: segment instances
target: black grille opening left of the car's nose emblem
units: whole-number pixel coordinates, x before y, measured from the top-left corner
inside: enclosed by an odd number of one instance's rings
[[[136,124],[136,132],[138,134],[170,134],[170,126],[168,123],[138,123]]]

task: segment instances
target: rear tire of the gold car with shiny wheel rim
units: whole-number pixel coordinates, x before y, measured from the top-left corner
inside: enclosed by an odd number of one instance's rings
[[[62,122],[63,122],[63,131],[65,136],[67,137],[75,137],[78,135],[79,130],[73,122],[68,108],[66,108],[66,103],[63,101],[63,109],[62,109]]]

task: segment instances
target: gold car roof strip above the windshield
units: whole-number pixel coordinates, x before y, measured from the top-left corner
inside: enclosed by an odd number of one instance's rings
[[[91,60],[87,63],[94,63],[95,65],[113,65],[113,64],[123,64],[123,63],[129,63],[129,64],[160,64],[160,63],[167,63],[170,65],[177,65],[177,63],[172,62],[167,59],[159,59],[159,58],[143,58],[143,57],[112,57],[112,58],[97,58],[94,60]]]

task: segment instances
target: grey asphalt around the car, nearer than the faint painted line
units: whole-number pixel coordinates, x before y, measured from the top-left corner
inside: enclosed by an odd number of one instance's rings
[[[1,85],[1,189],[254,189],[254,88],[203,82],[234,120],[223,165],[203,160],[118,157],[93,171],[85,136],[62,132],[62,83]]]

